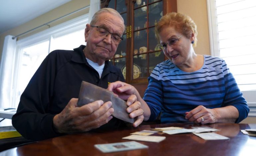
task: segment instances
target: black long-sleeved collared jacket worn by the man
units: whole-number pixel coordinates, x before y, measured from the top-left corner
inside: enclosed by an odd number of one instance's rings
[[[108,83],[123,81],[122,72],[105,61],[101,78],[83,53],[85,45],[74,50],[54,50],[42,62],[21,95],[12,124],[21,135],[31,140],[60,136],[53,129],[53,117],[59,114],[71,98],[78,98],[80,85],[86,81],[102,88]],[[97,128],[109,130],[125,125],[113,117]]]

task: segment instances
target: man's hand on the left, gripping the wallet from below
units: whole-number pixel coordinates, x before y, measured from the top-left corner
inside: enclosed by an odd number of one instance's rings
[[[78,99],[72,98],[64,110],[53,118],[54,128],[59,133],[85,132],[107,123],[114,112],[111,102],[98,100],[77,107]]]

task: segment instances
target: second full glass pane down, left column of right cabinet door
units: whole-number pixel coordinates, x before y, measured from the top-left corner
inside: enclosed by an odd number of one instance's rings
[[[147,52],[147,30],[137,31],[134,32],[134,50],[133,52],[136,53],[143,53]]]

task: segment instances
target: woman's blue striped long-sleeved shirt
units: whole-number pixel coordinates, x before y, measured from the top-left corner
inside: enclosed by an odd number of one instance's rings
[[[170,60],[158,64],[149,76],[144,98],[151,110],[148,121],[160,112],[162,123],[189,122],[185,112],[199,105],[213,109],[234,106],[236,123],[247,117],[249,108],[225,61],[204,55],[204,64],[194,72],[184,72]]]

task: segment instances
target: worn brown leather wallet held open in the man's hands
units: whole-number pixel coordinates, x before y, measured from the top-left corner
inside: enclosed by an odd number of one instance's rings
[[[134,118],[130,118],[129,114],[126,112],[127,105],[124,100],[114,96],[111,91],[82,81],[77,106],[83,106],[97,100],[102,100],[104,103],[111,101],[111,108],[114,109],[114,113],[112,115],[114,117],[130,123],[134,122]]]

